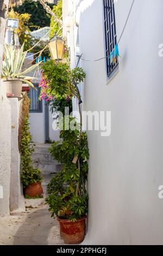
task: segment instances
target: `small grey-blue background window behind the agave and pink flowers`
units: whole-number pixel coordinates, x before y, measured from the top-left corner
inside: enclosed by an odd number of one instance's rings
[[[42,100],[39,100],[40,87],[39,83],[34,83],[34,88],[30,87],[29,98],[30,98],[30,113],[42,113]]]

